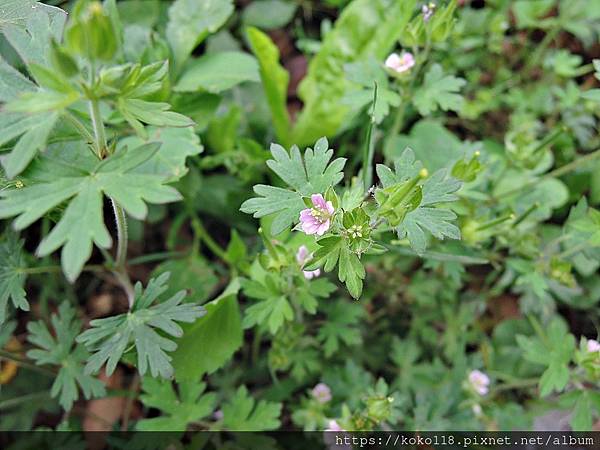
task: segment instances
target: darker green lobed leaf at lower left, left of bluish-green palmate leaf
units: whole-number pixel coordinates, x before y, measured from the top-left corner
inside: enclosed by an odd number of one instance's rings
[[[60,366],[50,394],[59,397],[61,406],[69,410],[79,398],[79,389],[86,399],[105,395],[104,384],[84,373],[83,363],[88,353],[82,345],[75,344],[75,338],[81,331],[81,323],[75,318],[75,310],[66,302],[58,309],[58,315],[52,314],[54,336],[43,321],[29,322],[28,340],[39,347],[27,352],[27,357],[36,364]]]

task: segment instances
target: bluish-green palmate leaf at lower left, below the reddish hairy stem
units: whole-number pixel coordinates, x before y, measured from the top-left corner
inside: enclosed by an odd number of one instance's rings
[[[183,330],[177,322],[194,322],[206,311],[202,306],[192,303],[182,304],[185,291],[151,306],[167,290],[169,275],[166,272],[151,279],[145,290],[138,282],[135,285],[133,308],[129,313],[90,322],[92,328],[77,338],[77,342],[84,343],[93,352],[86,364],[86,373],[96,373],[106,363],[106,373],[110,376],[123,353],[134,344],[141,375],[150,370],[153,377],[173,376],[171,357],[167,352],[174,351],[177,344],[157,331],[181,337]]]

